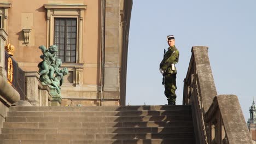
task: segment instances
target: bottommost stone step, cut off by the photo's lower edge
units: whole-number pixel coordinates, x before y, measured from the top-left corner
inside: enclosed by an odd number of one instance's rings
[[[194,144],[193,139],[138,140],[0,140],[1,144]]]

